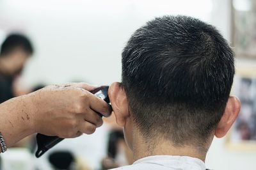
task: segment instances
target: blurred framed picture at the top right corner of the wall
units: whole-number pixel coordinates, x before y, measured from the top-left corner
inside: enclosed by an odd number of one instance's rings
[[[232,0],[232,46],[237,58],[256,59],[256,0]]]

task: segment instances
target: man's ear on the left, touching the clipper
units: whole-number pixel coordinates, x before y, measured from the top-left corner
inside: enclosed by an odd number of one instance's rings
[[[124,127],[126,118],[130,116],[124,88],[120,82],[113,82],[108,90],[109,100],[116,116],[116,123]]]

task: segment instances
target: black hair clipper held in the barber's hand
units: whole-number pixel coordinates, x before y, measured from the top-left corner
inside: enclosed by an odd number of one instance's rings
[[[99,98],[102,98],[109,104],[109,98],[108,98],[108,88],[109,86],[101,86],[99,88],[94,89],[91,91],[94,95],[96,95]],[[109,107],[111,105],[109,104]],[[112,109],[112,108],[111,108]],[[99,113],[100,114],[100,113]],[[102,116],[100,114],[100,116]],[[51,149],[56,144],[60,143],[64,138],[60,138],[58,136],[48,136],[43,134],[36,134],[36,142],[37,142],[37,151],[35,153],[36,158],[41,157],[47,150]]]

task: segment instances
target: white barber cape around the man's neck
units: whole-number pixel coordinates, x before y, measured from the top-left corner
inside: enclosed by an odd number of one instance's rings
[[[205,170],[202,160],[192,157],[157,155],[136,160],[131,166],[118,167],[112,170]]]

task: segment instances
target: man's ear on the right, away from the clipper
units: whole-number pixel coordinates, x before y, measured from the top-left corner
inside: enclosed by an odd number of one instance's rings
[[[238,113],[240,112],[240,108],[241,103],[237,97],[228,98],[224,114],[215,129],[216,137],[220,138],[227,134],[228,130],[236,120]]]

